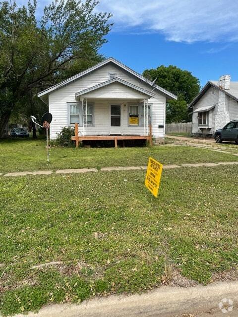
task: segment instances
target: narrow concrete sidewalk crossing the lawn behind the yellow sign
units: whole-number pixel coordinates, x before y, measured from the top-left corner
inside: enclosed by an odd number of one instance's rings
[[[184,163],[184,164],[171,164],[171,165],[163,165],[163,169],[171,169],[171,168],[180,168],[180,167],[201,167],[208,166],[214,167],[219,165],[234,165],[238,164],[236,162],[218,162],[218,163]],[[147,166],[118,166],[118,167],[102,167],[101,169],[96,168],[72,168],[72,169],[58,169],[56,174],[73,174],[73,173],[88,173],[88,172],[98,172],[98,171],[124,171],[124,170],[144,170],[147,169]],[[2,173],[0,173],[1,175]],[[38,171],[24,171],[24,172],[11,172],[2,174],[4,177],[9,176],[25,176],[25,175],[50,175],[53,174],[53,170],[38,170]]]

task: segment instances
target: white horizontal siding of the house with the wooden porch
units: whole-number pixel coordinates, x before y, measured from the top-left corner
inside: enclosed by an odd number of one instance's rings
[[[104,65],[101,68],[98,68],[91,73],[65,85],[60,87],[59,89],[51,92],[49,94],[49,111],[53,115],[53,120],[51,123],[50,135],[51,138],[55,139],[57,134],[60,132],[62,127],[68,125],[68,107],[67,103],[76,102],[75,93],[80,92],[84,89],[93,87],[97,84],[105,82],[109,80],[109,73],[116,72],[117,77],[130,82],[136,86],[139,86],[147,91],[151,91],[152,87],[149,84],[141,81],[136,78],[132,74],[126,72],[125,70],[119,68],[113,63],[109,63]],[[123,86],[123,85],[122,85]],[[125,86],[123,86],[125,87]],[[108,87],[109,88],[109,87]],[[123,88],[124,89],[124,88]],[[125,89],[124,89],[125,90]],[[128,93],[128,91],[127,91]],[[152,116],[152,134],[156,138],[164,138],[165,128],[159,128],[159,125],[163,125],[165,127],[165,104],[166,97],[162,93],[158,91],[153,92],[155,97],[149,99],[149,104],[153,104],[151,116]],[[132,94],[132,90],[130,90],[130,94]],[[142,94],[143,95],[143,94]],[[138,96],[138,92],[136,93]],[[91,97],[93,97],[91,95]],[[110,97],[110,96],[108,96]],[[133,96],[130,96],[131,98]],[[143,96],[141,96],[144,98]],[[128,127],[127,121],[127,104],[130,102],[135,102],[135,100],[104,100],[104,99],[90,99],[94,101],[94,126],[88,126],[88,135],[100,135],[100,134],[110,134],[110,104],[125,104],[122,110],[122,125],[121,130],[122,134],[142,134],[144,133],[144,127]],[[81,131],[82,128],[79,128]]]

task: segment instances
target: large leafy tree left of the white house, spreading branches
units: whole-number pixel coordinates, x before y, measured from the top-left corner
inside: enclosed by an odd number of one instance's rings
[[[36,0],[0,2],[0,136],[26,96],[102,58],[97,52],[112,24],[110,14],[95,13],[97,4],[53,0],[38,21]]]

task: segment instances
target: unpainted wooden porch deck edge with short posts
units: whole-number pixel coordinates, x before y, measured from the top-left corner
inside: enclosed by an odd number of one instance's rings
[[[78,124],[75,123],[75,136],[71,137],[72,141],[76,141],[76,147],[78,147],[81,141],[99,141],[99,140],[114,140],[115,148],[118,147],[118,140],[147,140],[152,145],[151,125],[149,135],[78,135]]]

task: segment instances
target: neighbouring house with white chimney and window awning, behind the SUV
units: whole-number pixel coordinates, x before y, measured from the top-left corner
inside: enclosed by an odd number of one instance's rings
[[[238,82],[232,82],[230,75],[209,81],[189,106],[193,108],[192,134],[213,135],[238,119]]]

